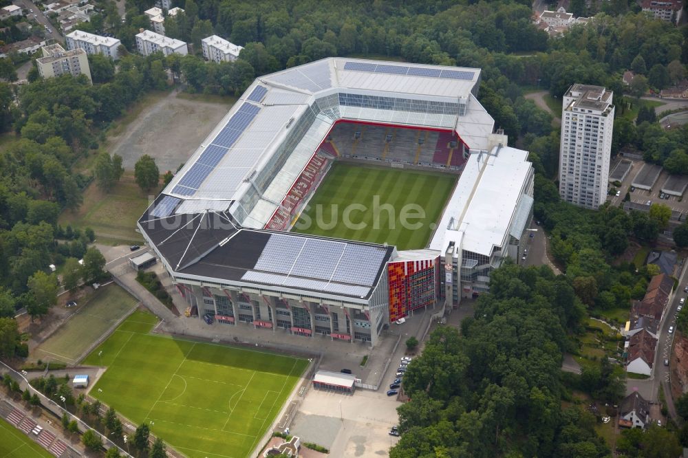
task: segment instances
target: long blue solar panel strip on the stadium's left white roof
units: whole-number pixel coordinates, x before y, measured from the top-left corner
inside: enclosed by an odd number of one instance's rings
[[[222,161],[229,148],[239,140],[259,111],[260,107],[244,102],[198,160],[184,173],[172,192],[180,195],[194,195],[208,175],[215,170],[215,166]]]

